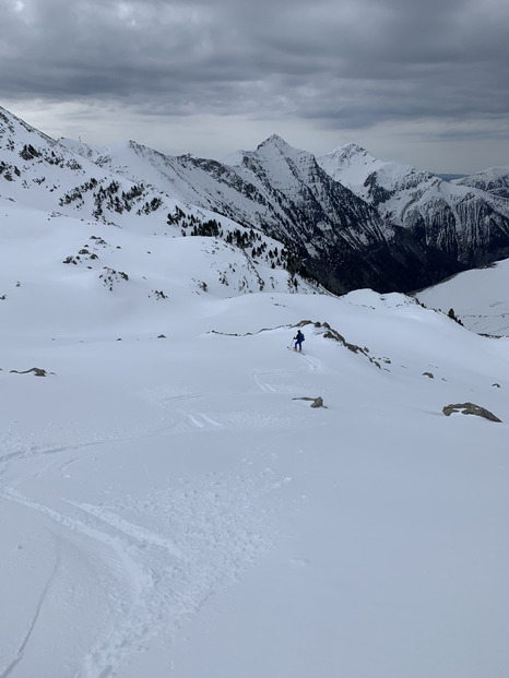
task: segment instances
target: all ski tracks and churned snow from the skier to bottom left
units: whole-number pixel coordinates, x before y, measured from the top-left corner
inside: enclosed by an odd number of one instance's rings
[[[247,389],[234,400],[228,393],[228,407],[217,402],[225,397],[221,392],[176,393],[162,386],[145,390],[142,397],[165,413],[161,426],[133,426],[72,444],[5,439],[9,447],[0,457],[0,478],[4,480],[0,498],[36,512],[45,524],[49,521],[55,526],[58,552],[64,552],[63,546],[71,543],[79,549],[83,560],[91,563],[87,574],[93,581],[85,580],[83,585],[88,587],[92,605],[95,599],[98,606],[100,598],[107,606],[105,628],[88,639],[74,678],[107,678],[128,654],[143,652],[155,637],[170,643],[185,620],[270,548],[275,530],[274,492],[292,478],[279,477],[269,467],[257,474],[252,461],[240,454],[236,475],[213,472],[182,480],[181,487],[171,489],[157,489],[152,483],[147,496],[123,493],[108,498],[107,503],[66,499],[58,492],[35,499],[20,491],[20,486],[45,474],[70,478],[73,464],[86,462],[91,454],[98,459],[118,451],[125,442],[182,433],[284,431],[292,426],[291,415],[272,405],[272,396],[287,400],[295,394],[296,374],[305,378],[307,372],[322,369],[321,360],[310,355],[301,354],[295,360],[287,369],[252,371],[250,383],[254,389],[248,381]],[[269,400],[260,401],[261,396]],[[276,449],[273,440],[262,450],[262,457],[275,454]],[[139,463],[150,477],[142,455]],[[23,655],[48,604],[48,590],[59,585],[59,567],[55,564],[17,654],[0,678],[14,673],[17,677],[23,670]],[[58,632],[58,628],[52,630]]]

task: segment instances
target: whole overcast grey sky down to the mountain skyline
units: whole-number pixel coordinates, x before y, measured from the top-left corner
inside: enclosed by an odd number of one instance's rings
[[[52,138],[221,159],[509,166],[508,0],[0,0],[0,105]]]

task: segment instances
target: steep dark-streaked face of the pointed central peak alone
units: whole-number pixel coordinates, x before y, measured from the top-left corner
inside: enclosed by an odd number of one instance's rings
[[[228,168],[253,186],[257,224],[296,250],[329,289],[378,287],[389,272],[384,248],[392,229],[376,210],[332,180],[310,153],[274,135],[257,151],[238,155]],[[398,278],[400,273],[391,271]]]

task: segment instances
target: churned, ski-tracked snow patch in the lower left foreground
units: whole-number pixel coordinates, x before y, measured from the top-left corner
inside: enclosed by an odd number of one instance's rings
[[[102,579],[114,576],[113,588],[110,584],[108,591],[96,592],[110,606],[114,603],[113,623],[92,644],[76,674],[76,678],[105,678],[126,651],[143,651],[155,634],[164,633],[170,642],[173,630],[269,547],[267,536],[260,536],[267,535],[267,525],[254,504],[260,503],[260,495],[280,486],[270,474],[261,488],[249,477],[212,477],[199,487],[154,491],[144,500],[119,499],[108,508],[68,502],[72,514],[12,487],[3,488],[0,496],[50,519],[62,528],[60,539],[72,539],[85,558],[98,561]],[[127,520],[126,513],[133,520]],[[158,532],[142,525],[147,516],[151,524],[159,523]],[[2,678],[23,659],[49,583]]]

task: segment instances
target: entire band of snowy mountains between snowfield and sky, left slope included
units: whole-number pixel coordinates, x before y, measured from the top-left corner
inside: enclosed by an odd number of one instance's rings
[[[281,243],[272,264],[335,294],[409,292],[509,257],[508,186],[509,167],[448,182],[355,144],[315,157],[276,135],[223,163],[132,141],[98,148],[51,140],[0,108],[0,195],[252,248],[252,236],[233,236],[238,226]]]

